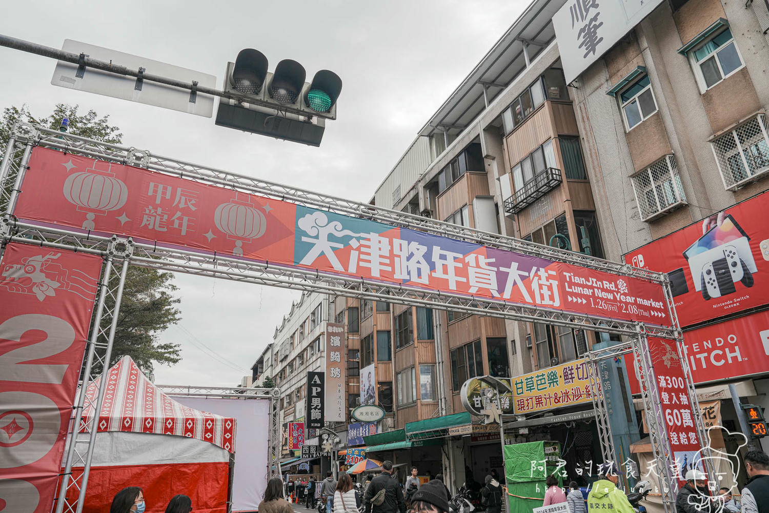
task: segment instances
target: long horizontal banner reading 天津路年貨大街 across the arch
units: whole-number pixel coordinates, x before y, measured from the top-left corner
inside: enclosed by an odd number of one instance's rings
[[[14,214],[35,225],[115,234],[158,247],[232,255],[356,282],[670,325],[662,286],[644,279],[48,148],[32,150]],[[336,406],[329,403],[327,408]]]

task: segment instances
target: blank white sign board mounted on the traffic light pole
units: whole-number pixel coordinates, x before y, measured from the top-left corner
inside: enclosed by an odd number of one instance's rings
[[[153,61],[148,58],[138,57],[123,52],[102,48],[101,46],[88,45],[72,39],[65,39],[62,50],[75,54],[85,54],[90,58],[100,61],[112,61],[115,65],[125,66],[128,69],[138,71],[145,68],[145,73],[160,75],[181,82],[192,83],[208,88],[216,88],[216,77],[206,73],[195,72],[187,68],[179,68],[165,62]],[[214,114],[214,97],[198,92],[195,102],[190,102],[190,92],[186,89],[158,84],[158,82],[144,81],[141,90],[136,88],[136,77],[116,75],[115,73],[102,72],[95,68],[85,68],[82,78],[78,78],[78,65],[71,62],[58,61],[51,79],[52,85],[77,89],[78,91],[92,92],[97,95],[112,96],[129,102],[145,103],[156,107],[170,108],[171,110],[188,112],[210,118]]]

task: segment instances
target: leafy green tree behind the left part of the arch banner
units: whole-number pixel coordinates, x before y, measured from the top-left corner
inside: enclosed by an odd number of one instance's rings
[[[82,114],[78,105],[60,103],[51,115],[35,118],[29,108],[22,105],[21,108],[5,108],[0,116],[0,155],[5,152],[17,122],[29,122],[55,130],[61,125],[62,118],[69,119],[68,132],[71,134],[112,144],[122,142],[120,129],[109,124],[108,115],[99,116],[92,110]],[[154,362],[173,365],[181,361],[178,344],[158,341],[158,334],[180,319],[181,312],[176,308],[179,298],[174,296],[177,288],[173,278],[170,272],[135,266],[128,268],[111,365],[123,355],[129,355],[142,371],[149,374],[153,371]],[[110,285],[116,285],[118,279],[119,275],[113,273]],[[114,304],[114,298],[108,296],[108,308],[112,309]],[[108,325],[109,319],[103,319],[102,329],[108,328]],[[100,371],[100,368],[95,368],[95,372]]]

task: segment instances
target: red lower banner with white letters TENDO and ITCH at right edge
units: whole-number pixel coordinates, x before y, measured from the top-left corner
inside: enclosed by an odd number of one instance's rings
[[[696,385],[769,372],[769,311],[684,331],[684,346]],[[631,358],[625,355],[628,369]],[[628,381],[638,394],[634,371],[628,371]]]

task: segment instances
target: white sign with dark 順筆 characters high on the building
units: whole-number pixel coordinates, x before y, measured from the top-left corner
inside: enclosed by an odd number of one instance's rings
[[[566,83],[581,75],[662,0],[570,0],[553,16]]]

